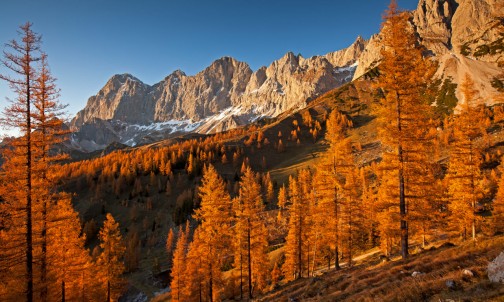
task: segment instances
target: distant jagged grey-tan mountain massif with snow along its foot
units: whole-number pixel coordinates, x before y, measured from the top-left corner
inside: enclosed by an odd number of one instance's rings
[[[347,49],[307,59],[289,52],[255,72],[223,57],[194,76],[175,71],[153,86],[115,75],[73,119],[78,131],[72,143],[91,151],[113,141],[136,145],[275,117],[349,82],[365,45],[358,37]]]

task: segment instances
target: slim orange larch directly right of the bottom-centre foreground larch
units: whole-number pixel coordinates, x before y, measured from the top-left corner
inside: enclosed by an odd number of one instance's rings
[[[235,244],[235,267],[240,268],[240,293],[243,292],[243,270],[248,280],[248,298],[253,290],[262,291],[267,284],[268,255],[267,230],[263,220],[264,203],[261,185],[250,167],[245,170],[240,182],[239,196],[233,205],[237,230]]]

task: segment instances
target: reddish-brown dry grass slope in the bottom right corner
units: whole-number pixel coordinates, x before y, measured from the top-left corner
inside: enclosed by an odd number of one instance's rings
[[[504,237],[461,243],[385,263],[372,261],[289,283],[259,301],[504,301],[504,285],[486,268],[504,250]],[[462,274],[469,269],[474,277]],[[423,273],[412,277],[414,271]],[[447,280],[455,281],[449,289]]]

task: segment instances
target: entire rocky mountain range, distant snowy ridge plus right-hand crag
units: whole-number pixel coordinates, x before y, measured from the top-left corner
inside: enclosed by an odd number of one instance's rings
[[[436,77],[460,83],[470,74],[481,102],[499,100],[504,66],[504,7],[499,0],[420,0],[412,30]],[[292,52],[253,71],[231,57],[193,76],[177,70],[154,85],[130,74],[112,76],[71,121],[72,148],[89,152],[185,133],[215,133],[295,111],[379,66],[381,33],[348,48],[304,58]],[[459,100],[463,100],[456,89]]]

